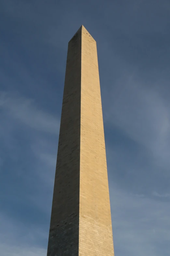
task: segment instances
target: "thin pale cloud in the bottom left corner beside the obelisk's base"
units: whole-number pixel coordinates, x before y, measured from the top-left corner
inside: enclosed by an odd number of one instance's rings
[[[0,213],[0,253],[3,256],[46,255],[47,249],[41,243],[48,235],[36,225],[26,225]],[[3,232],[2,232],[3,230]],[[37,244],[37,241],[41,241]]]

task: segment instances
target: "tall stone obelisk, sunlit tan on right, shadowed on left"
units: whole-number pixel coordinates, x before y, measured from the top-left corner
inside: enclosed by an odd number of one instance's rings
[[[113,256],[96,42],[68,43],[48,256]]]

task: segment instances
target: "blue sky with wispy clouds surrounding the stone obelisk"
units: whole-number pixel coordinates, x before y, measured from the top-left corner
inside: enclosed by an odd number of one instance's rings
[[[97,42],[116,256],[170,251],[169,0],[0,1],[0,255],[46,256],[68,41]]]

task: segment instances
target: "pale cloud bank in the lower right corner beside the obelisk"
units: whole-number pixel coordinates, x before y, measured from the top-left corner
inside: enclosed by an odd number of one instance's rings
[[[110,185],[115,254],[135,256],[138,251],[139,256],[158,256],[163,243],[165,255],[168,255],[169,202],[122,192],[115,183],[110,182]]]

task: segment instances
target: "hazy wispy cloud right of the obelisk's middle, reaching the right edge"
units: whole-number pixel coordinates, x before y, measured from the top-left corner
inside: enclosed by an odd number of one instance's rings
[[[154,161],[169,166],[170,104],[154,89],[126,76],[112,89],[107,122],[144,146]]]

